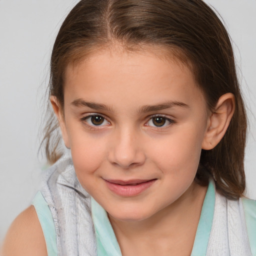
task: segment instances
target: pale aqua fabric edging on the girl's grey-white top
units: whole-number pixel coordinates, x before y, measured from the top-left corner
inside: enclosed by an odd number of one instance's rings
[[[249,243],[253,256],[256,256],[256,202],[242,198]],[[32,202],[40,221],[46,241],[48,256],[56,256],[56,232],[50,209],[38,192]],[[201,215],[196,230],[191,256],[206,255],[207,244],[212,226],[215,204],[214,182],[209,182],[203,201]],[[91,198],[91,212],[95,228],[97,256],[121,256],[121,250],[106,211]]]

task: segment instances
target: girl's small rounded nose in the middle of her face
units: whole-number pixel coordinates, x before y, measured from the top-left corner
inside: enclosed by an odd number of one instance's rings
[[[109,146],[109,162],[121,168],[141,165],[145,161],[139,134],[132,129],[114,132]]]

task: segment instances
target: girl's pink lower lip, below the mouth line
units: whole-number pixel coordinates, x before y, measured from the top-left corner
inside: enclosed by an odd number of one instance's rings
[[[120,185],[105,180],[107,187],[114,193],[121,196],[134,196],[149,188],[156,179],[151,179],[136,185]]]

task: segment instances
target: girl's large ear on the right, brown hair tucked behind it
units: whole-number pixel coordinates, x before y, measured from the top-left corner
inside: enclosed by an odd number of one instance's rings
[[[225,93],[217,101],[208,117],[207,127],[202,141],[202,149],[212,149],[224,136],[234,113],[235,101],[232,93]]]

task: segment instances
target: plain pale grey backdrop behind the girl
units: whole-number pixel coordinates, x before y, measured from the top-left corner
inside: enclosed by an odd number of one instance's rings
[[[77,0],[0,0],[0,243],[31,202],[45,161],[38,158],[49,57],[57,30]],[[256,0],[206,0],[233,41],[250,128],[247,195],[256,198]]]

